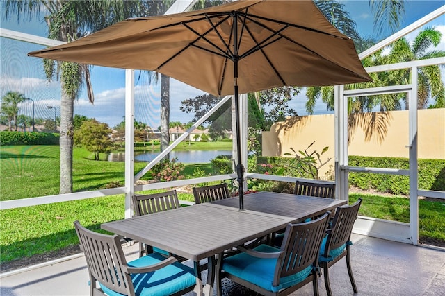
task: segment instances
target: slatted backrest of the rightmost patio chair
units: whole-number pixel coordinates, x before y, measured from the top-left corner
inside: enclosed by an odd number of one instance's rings
[[[350,240],[350,234],[353,231],[360,204],[362,204],[361,198],[359,198],[355,204],[337,207],[335,210],[334,220],[332,220],[332,230],[328,234],[326,241],[326,256],[328,256],[330,250],[335,250]]]

